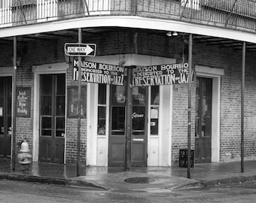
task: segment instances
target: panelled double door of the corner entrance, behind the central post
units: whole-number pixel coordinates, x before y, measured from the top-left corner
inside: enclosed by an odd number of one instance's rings
[[[132,111],[128,112],[127,97],[132,99]],[[126,153],[131,153],[132,166],[147,165],[148,146],[148,88],[133,87],[127,95],[125,86],[111,86],[110,124],[108,138],[108,165],[124,166]],[[132,120],[132,129],[126,125],[127,114]],[[126,151],[126,133],[131,132],[131,151]]]

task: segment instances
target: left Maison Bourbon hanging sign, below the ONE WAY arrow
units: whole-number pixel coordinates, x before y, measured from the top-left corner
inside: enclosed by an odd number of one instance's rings
[[[73,61],[73,80],[78,81],[78,60]],[[123,86],[124,68],[99,62],[81,62],[81,81]]]

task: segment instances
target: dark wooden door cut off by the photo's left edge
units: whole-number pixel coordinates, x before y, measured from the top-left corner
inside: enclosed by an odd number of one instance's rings
[[[0,77],[0,157],[11,157],[11,77]]]

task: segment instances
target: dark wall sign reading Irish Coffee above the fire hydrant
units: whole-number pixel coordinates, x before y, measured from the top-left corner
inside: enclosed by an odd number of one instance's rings
[[[30,87],[17,87],[16,116],[30,117]]]

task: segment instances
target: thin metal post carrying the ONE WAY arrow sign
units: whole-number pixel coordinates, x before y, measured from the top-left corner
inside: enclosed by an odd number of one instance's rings
[[[78,43],[82,43],[82,29],[78,29]],[[77,176],[80,175],[80,140],[81,140],[81,56],[78,56],[78,160]]]

